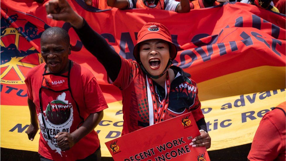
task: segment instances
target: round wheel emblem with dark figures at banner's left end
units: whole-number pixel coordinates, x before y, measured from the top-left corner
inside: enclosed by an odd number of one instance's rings
[[[12,23],[16,21],[21,21],[23,26],[15,28]],[[37,26],[18,19],[18,14],[1,17],[1,83],[25,84],[28,70],[44,62],[38,50],[29,43],[41,35]]]

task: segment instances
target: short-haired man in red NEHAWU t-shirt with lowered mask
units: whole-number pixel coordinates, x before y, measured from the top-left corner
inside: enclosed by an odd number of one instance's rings
[[[100,160],[93,130],[108,108],[99,85],[88,69],[69,60],[68,33],[48,28],[41,36],[45,63],[26,75],[31,124],[26,133],[33,141],[40,125],[41,160]]]

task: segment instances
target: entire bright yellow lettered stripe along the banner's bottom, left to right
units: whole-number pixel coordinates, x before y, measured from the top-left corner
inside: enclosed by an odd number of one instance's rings
[[[285,89],[278,89],[202,101],[202,111],[212,138],[209,150],[251,143],[265,112],[285,101],[285,96]],[[120,136],[123,123],[121,101],[108,106],[95,129],[98,131],[103,157],[111,156],[104,143]],[[39,135],[30,141],[25,134],[29,123],[27,106],[1,105],[1,147],[38,151]]]

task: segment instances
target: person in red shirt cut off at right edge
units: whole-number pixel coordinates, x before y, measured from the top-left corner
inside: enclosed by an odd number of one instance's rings
[[[253,138],[249,160],[281,160],[286,159],[286,102],[279,104],[267,112],[260,121]]]

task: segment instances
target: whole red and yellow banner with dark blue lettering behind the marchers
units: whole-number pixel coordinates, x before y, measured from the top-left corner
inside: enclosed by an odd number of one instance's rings
[[[47,1],[45,1],[47,3]],[[69,23],[46,18],[44,4],[1,1],[1,147],[38,150],[28,140],[30,124],[24,84],[28,70],[43,62],[40,36],[50,26],[69,32],[70,59],[96,76],[108,102],[96,127],[101,145],[120,136],[120,90],[108,84],[106,71],[89,53]],[[285,15],[242,3],[179,14],[165,10],[100,11],[82,1],[69,4],[118,54],[134,59],[137,33],[146,22],[164,24],[178,55],[174,65],[198,83],[199,99],[212,138],[209,150],[251,143],[262,116],[285,101]],[[87,35],[88,36],[88,35]],[[178,90],[185,87],[181,84]],[[102,156],[110,156],[102,146]]]

